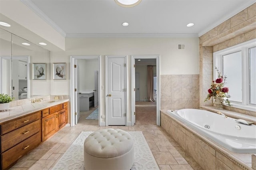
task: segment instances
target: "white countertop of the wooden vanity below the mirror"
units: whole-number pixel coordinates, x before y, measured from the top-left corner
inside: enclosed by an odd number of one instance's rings
[[[28,115],[30,113],[40,111],[42,109],[46,109],[48,107],[58,105],[67,101],[69,101],[69,99],[52,99],[52,100],[43,100],[41,102],[28,103],[24,105],[15,106],[15,107],[10,107],[8,111],[0,111],[0,123],[9,121],[17,117]]]

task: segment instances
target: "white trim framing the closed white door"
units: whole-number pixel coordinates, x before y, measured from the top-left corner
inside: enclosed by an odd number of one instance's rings
[[[105,101],[106,101],[106,126],[108,126],[108,103],[107,103],[107,96],[108,96],[108,58],[125,58],[125,111],[126,111],[126,118],[125,118],[125,126],[128,126],[128,113],[127,113],[127,101],[128,101],[128,95],[127,95],[127,77],[128,77],[128,68],[127,68],[127,55],[106,55],[106,62],[105,62]]]

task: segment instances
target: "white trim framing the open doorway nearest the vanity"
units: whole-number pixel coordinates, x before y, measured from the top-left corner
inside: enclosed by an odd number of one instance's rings
[[[75,64],[75,60],[76,59],[98,59],[98,68],[99,68],[99,87],[101,85],[101,55],[71,55],[70,56],[70,98],[71,98],[71,113],[70,113],[70,126],[74,126],[75,125],[75,93],[74,93],[74,89],[75,89],[75,68],[74,68],[74,64]],[[98,125],[100,126],[101,120],[100,120],[100,113],[101,113],[101,88],[99,88],[99,122]]]

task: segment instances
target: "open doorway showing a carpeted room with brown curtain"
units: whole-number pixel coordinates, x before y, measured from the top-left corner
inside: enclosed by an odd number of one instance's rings
[[[133,125],[160,125],[159,56],[132,56]]]

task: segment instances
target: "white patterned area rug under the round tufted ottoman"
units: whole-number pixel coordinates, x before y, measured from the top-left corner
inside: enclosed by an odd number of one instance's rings
[[[84,170],[84,140],[92,132],[81,132],[53,170]],[[134,164],[132,170],[159,170],[156,160],[142,132],[128,132],[134,139]],[[100,163],[100,162],[99,162]]]

